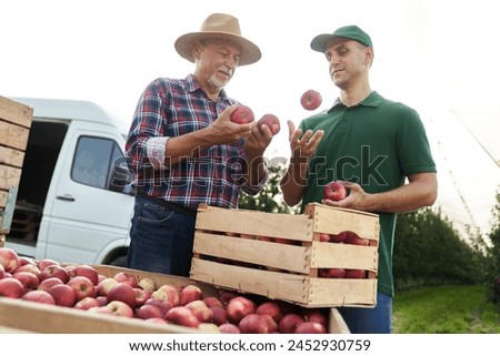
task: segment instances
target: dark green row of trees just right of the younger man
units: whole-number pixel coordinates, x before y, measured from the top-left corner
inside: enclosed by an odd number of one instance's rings
[[[400,214],[396,227],[396,288],[479,283],[474,250],[451,223],[430,207]]]

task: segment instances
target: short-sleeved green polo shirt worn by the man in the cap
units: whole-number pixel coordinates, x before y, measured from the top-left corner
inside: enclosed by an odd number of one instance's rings
[[[413,173],[436,172],[436,164],[419,114],[377,92],[356,106],[336,102],[310,116],[300,129],[323,130],[312,157],[302,207],[320,202],[323,186],[333,180],[360,184],[368,193],[393,190]],[[396,214],[379,213],[378,291],[393,296],[392,252]]]

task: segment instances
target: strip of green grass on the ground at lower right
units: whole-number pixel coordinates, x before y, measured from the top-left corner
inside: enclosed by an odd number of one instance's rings
[[[500,316],[480,285],[446,285],[399,292],[394,334],[499,334]]]

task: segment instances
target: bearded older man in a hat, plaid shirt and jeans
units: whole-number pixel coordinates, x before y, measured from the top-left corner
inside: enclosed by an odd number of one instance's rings
[[[241,189],[257,194],[268,176],[262,154],[272,133],[230,121],[239,102],[223,88],[239,65],[261,58],[238,19],[211,14],[174,47],[194,72],[152,81],[127,140],[137,187],[128,266],[188,276],[198,205],[236,207]]]

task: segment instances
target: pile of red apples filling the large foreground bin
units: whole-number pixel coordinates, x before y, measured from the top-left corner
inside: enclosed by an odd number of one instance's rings
[[[224,289],[217,296],[206,296],[196,284],[157,285],[152,278],[139,278],[126,271],[104,276],[90,265],[36,261],[8,247],[0,247],[1,297],[209,333],[324,334],[328,328],[326,309]]]

